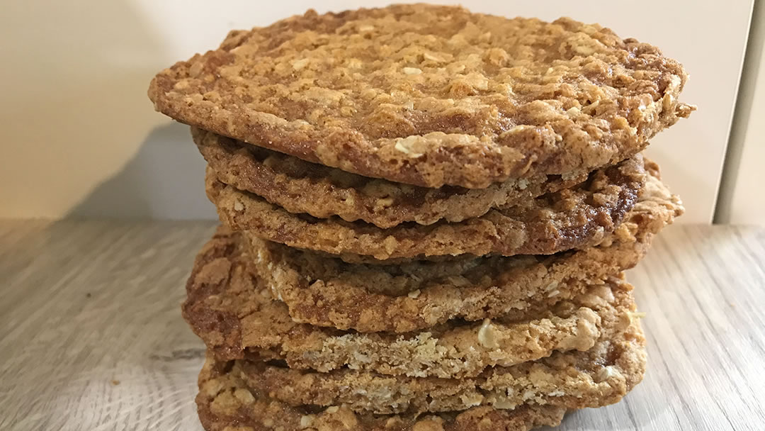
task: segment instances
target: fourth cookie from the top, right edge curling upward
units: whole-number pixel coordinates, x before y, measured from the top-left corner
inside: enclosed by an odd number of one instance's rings
[[[551,256],[458,256],[345,263],[324,253],[252,239],[275,298],[298,322],[356,331],[418,331],[454,318],[494,318],[571,299],[630,269],[683,208],[655,177],[622,224],[597,247]]]

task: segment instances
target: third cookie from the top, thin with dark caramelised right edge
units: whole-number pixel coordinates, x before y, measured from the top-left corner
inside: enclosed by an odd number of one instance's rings
[[[210,169],[207,173],[207,196],[229,227],[290,247],[381,260],[464,253],[552,254],[584,247],[600,242],[618,226],[646,180],[642,155],[635,155],[592,172],[573,188],[496,208],[481,217],[380,229],[338,217],[291,214],[255,194],[217,181]]]

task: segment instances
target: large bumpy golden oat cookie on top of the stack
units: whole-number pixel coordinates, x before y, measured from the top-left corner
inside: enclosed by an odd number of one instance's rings
[[[181,122],[360,175],[483,188],[640,151],[692,106],[648,44],[568,18],[394,5],[232,31],[163,70]]]

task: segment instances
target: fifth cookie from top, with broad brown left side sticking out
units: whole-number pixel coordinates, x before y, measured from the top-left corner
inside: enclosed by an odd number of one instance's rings
[[[392,375],[475,376],[486,367],[532,361],[553,351],[586,351],[599,338],[623,331],[635,310],[632,286],[611,278],[573,299],[493,320],[455,320],[407,334],[360,334],[295,322],[284,303],[272,300],[252,260],[239,235],[221,228],[197,256],[187,283],[184,318],[221,360],[279,360],[319,371],[350,367]]]

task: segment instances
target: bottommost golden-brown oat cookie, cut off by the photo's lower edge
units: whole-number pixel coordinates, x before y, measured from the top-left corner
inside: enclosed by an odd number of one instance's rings
[[[200,372],[199,389],[197,411],[207,431],[529,431],[557,426],[566,411],[532,403],[428,415],[356,413],[347,406],[293,407],[248,387],[233,364],[217,362],[211,355]]]

